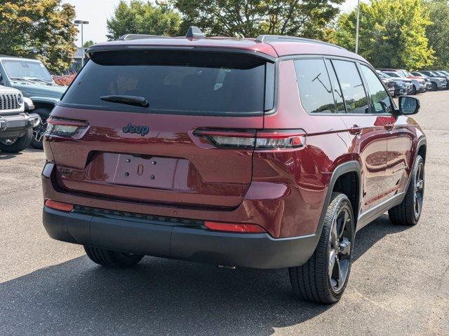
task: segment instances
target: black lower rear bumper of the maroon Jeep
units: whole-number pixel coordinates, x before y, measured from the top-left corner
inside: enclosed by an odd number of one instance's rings
[[[74,244],[251,268],[302,265],[314,253],[319,239],[316,235],[274,239],[265,233],[216,232],[201,224],[192,227],[192,224],[95,216],[48,207],[43,207],[43,225],[53,239]]]

